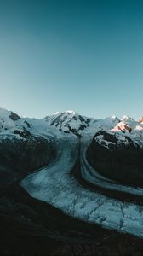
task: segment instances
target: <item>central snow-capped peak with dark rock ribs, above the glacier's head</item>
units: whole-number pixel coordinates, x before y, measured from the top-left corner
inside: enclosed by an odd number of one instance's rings
[[[73,110],[55,113],[52,116],[45,117],[44,120],[59,131],[74,134],[77,137],[83,137],[84,135],[92,137],[96,131],[108,131],[120,121],[115,115],[106,119],[95,119],[80,115]]]

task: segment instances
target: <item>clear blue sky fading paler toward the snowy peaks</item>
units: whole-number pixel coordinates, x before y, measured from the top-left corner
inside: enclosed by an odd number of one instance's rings
[[[0,105],[143,115],[143,1],[0,0]]]

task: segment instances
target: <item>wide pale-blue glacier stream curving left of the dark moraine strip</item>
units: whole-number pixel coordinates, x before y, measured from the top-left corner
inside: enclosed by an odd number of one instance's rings
[[[85,189],[73,177],[79,143],[79,138],[60,137],[53,164],[28,175],[21,181],[21,186],[32,197],[46,201],[74,218],[143,237],[143,206]],[[82,170],[84,168],[82,164]]]

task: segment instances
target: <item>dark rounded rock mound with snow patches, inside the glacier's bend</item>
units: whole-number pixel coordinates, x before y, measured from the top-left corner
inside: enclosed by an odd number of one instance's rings
[[[101,175],[143,186],[143,149],[131,138],[99,131],[89,145],[87,157]]]

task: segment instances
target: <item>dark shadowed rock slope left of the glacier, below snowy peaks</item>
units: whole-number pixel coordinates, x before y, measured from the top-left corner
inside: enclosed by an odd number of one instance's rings
[[[15,133],[17,133],[15,131]],[[21,135],[20,135],[21,136]],[[22,134],[21,137],[24,135]],[[48,165],[54,158],[54,144],[43,137],[26,134],[24,139],[0,141],[0,185],[13,183],[26,173]]]

